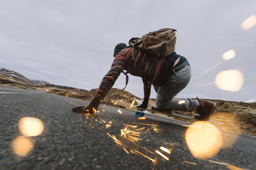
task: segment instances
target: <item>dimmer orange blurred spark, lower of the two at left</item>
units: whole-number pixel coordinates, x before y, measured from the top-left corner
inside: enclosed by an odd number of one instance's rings
[[[19,136],[12,143],[13,152],[20,157],[26,157],[33,146],[33,141],[25,136]]]

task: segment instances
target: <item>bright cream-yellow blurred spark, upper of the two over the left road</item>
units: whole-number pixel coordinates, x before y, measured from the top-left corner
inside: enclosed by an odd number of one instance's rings
[[[39,136],[44,131],[44,123],[35,117],[20,118],[19,130],[24,136]]]

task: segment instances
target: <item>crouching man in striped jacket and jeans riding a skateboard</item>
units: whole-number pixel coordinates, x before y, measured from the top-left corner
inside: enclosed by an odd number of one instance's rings
[[[115,46],[113,64],[102,79],[99,89],[89,106],[79,106],[73,111],[79,113],[94,113],[100,102],[113,87],[116,79],[123,70],[134,76],[140,76],[144,85],[144,100],[137,108],[147,108],[151,85],[157,92],[156,106],[152,110],[159,111],[196,111],[198,120],[208,120],[216,109],[216,103],[198,99],[174,99],[184,89],[191,78],[191,67],[185,57],[173,52],[161,59],[145,63],[145,53],[136,50],[125,43]],[[141,66],[142,64],[142,66]],[[179,104],[179,101],[185,101]]]

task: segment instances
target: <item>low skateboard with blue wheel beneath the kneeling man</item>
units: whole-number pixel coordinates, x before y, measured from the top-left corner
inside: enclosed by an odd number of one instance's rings
[[[199,121],[198,119],[196,119],[195,117],[191,117],[188,115],[182,115],[179,113],[173,113],[172,111],[157,111],[157,110],[150,110],[150,109],[143,109],[143,108],[136,108],[137,111],[135,113],[135,117],[144,117],[144,111],[150,111],[150,113],[154,114],[154,113],[162,113],[165,115],[172,115],[173,117],[180,117],[180,118],[187,118],[187,119],[192,119],[192,120],[196,120]],[[222,124],[221,122],[214,122],[212,120],[207,120],[207,122],[211,122],[213,124]]]

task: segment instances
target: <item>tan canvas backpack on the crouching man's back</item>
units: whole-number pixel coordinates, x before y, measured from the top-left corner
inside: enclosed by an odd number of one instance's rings
[[[141,38],[131,38],[129,45],[154,58],[166,57],[175,52],[175,29],[164,28],[149,32]]]

